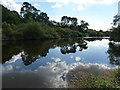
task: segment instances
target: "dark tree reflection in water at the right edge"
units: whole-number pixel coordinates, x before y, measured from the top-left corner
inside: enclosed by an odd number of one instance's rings
[[[111,64],[120,65],[120,43],[110,42],[108,49]]]

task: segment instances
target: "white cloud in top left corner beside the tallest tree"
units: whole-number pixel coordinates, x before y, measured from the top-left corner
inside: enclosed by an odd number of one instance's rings
[[[13,0],[0,0],[0,4],[10,10],[15,10],[17,12],[20,12],[20,8],[22,6],[20,4],[16,4]]]

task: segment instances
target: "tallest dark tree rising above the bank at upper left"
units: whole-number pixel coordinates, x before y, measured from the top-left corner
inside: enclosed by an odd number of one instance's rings
[[[46,13],[36,9],[28,2],[24,2],[22,6],[20,14],[24,22],[28,22],[27,20],[33,20],[36,22],[48,23],[49,17]]]

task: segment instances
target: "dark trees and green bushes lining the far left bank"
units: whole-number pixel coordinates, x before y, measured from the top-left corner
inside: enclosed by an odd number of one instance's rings
[[[51,39],[70,37],[109,36],[109,32],[88,29],[89,24],[76,17],[63,16],[61,22],[49,20],[45,12],[41,12],[28,2],[24,2],[20,14],[2,6],[2,39]]]

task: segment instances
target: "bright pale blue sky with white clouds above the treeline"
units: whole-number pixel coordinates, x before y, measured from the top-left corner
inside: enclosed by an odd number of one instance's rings
[[[89,23],[90,29],[109,30],[113,17],[118,13],[119,0],[0,0],[0,4],[20,12],[23,2],[29,2],[50,20],[61,21],[62,16],[76,17]]]

